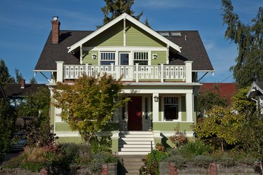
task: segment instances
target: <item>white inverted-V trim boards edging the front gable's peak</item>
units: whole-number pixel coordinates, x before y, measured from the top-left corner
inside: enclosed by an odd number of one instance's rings
[[[79,48],[83,43],[86,43],[91,38],[94,38],[98,34],[101,34],[103,31],[105,31],[106,29],[109,29],[109,27],[112,27],[113,25],[115,25],[117,22],[119,22],[121,20],[129,20],[130,22],[133,22],[134,25],[137,25],[138,27],[140,27],[144,31],[147,31],[152,36],[158,38],[160,41],[163,41],[163,43],[166,43],[171,48],[177,50],[177,52],[181,52],[179,45],[177,45],[177,44],[171,42],[170,40],[168,40],[167,38],[161,36],[161,34],[158,34],[156,31],[154,31],[153,29],[150,29],[146,25],[143,25],[142,22],[140,22],[138,20],[135,20],[135,18],[133,18],[132,16],[128,15],[127,13],[123,13],[122,15],[119,15],[119,17],[115,18],[114,20],[112,20],[111,22],[107,23],[106,25],[100,27],[100,29],[97,29],[92,34],[86,36],[85,38],[81,39],[77,43],[74,43],[73,45],[69,46],[69,52],[72,52],[76,48]]]

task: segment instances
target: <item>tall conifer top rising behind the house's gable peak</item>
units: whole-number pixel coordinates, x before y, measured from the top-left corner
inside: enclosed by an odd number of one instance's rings
[[[134,11],[131,10],[134,0],[104,0],[106,6],[102,7],[102,13],[104,14],[103,25],[106,25],[108,22],[114,20],[122,13],[127,13],[128,15],[133,16],[136,20],[140,20],[142,16],[141,12],[139,15],[134,15]],[[148,24],[149,25],[149,24]]]

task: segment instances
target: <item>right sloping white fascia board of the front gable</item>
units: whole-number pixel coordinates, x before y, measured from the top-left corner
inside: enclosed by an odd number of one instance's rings
[[[181,47],[179,45],[173,43],[172,41],[168,40],[164,36],[161,36],[161,34],[157,33],[153,29],[150,29],[146,25],[142,24],[142,22],[140,22],[138,20],[135,20],[135,18],[131,17],[130,15],[127,15],[126,19],[129,20],[130,22],[133,22],[133,24],[137,25],[141,29],[144,29],[144,31],[147,31],[152,36],[154,36],[154,37],[158,38],[159,40],[163,41],[163,43],[166,43],[167,45],[170,45],[171,48],[174,48],[178,52],[181,52]]]

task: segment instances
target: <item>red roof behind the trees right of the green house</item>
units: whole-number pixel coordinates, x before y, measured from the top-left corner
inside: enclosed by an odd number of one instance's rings
[[[236,88],[236,83],[203,83],[199,88],[199,92],[220,92],[220,97],[231,99],[238,89]]]

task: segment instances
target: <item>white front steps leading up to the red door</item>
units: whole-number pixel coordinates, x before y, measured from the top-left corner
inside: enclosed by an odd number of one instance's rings
[[[147,155],[154,148],[153,132],[120,132],[119,155]]]

